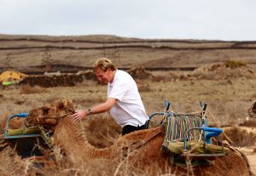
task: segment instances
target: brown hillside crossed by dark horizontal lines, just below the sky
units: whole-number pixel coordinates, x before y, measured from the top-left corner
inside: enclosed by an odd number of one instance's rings
[[[118,67],[201,67],[224,60],[241,60],[256,70],[255,42],[139,39],[96,36],[0,35],[0,71],[84,70],[100,57]],[[46,68],[46,65],[51,67]]]

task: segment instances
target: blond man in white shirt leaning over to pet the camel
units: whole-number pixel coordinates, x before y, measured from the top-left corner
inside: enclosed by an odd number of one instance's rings
[[[116,69],[111,60],[106,58],[96,60],[93,71],[100,82],[108,83],[108,99],[90,109],[75,111],[73,120],[79,122],[90,114],[110,111],[111,116],[123,128],[123,135],[146,128],[148,116],[131,75]]]

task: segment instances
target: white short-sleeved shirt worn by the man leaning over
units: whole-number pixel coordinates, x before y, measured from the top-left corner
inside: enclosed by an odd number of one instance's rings
[[[108,82],[108,98],[117,99],[110,114],[121,127],[142,126],[148,121],[137,84],[127,72],[116,70],[113,82]]]

